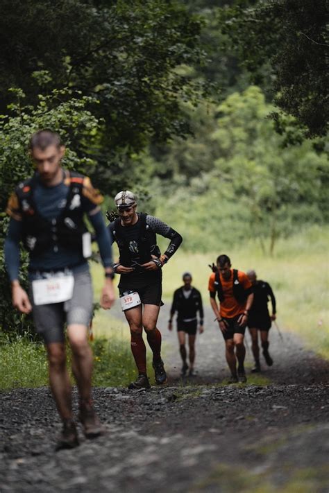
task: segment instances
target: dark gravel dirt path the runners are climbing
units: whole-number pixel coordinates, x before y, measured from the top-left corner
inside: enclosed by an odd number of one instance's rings
[[[275,365],[264,371],[271,384],[223,386],[223,341],[212,319],[207,309],[198,375],[182,381],[165,306],[168,386],[95,389],[107,433],[93,442],[81,434],[74,451],[53,452],[60,423],[49,390],[3,392],[0,492],[328,493],[329,364],[292,334],[282,345],[272,330]]]

